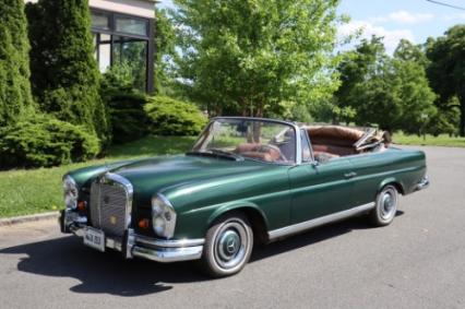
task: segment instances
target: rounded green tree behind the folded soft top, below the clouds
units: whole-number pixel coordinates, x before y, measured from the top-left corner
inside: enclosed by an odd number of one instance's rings
[[[377,123],[389,131],[422,132],[437,110],[419,50],[401,41],[390,57],[382,39],[372,37],[348,51],[339,66],[342,86],[336,99],[338,106],[353,108],[355,116],[344,120]]]

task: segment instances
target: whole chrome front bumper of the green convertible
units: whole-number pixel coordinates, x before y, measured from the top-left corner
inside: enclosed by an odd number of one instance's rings
[[[60,226],[61,231],[84,238],[87,218],[62,211]],[[122,238],[105,236],[105,247],[120,251],[126,259],[136,257],[162,263],[198,260],[202,257],[203,243],[203,238],[166,240],[146,237],[135,234],[132,228],[128,228]]]

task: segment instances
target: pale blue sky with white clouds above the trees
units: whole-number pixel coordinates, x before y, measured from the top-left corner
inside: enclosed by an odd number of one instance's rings
[[[449,27],[465,23],[465,0],[438,1],[464,10],[427,0],[342,0],[338,12],[350,16],[350,22],[339,26],[339,36],[362,28],[361,37],[384,37],[386,51],[392,54],[402,38],[421,44],[429,36],[441,36]],[[162,7],[172,5],[171,0],[160,2]]]

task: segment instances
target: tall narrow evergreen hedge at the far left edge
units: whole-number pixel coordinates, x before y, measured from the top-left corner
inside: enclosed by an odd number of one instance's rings
[[[24,0],[0,1],[0,127],[33,105]]]

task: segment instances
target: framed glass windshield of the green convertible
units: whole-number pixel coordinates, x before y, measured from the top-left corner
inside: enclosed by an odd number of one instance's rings
[[[192,152],[290,164],[296,161],[296,133],[291,126],[282,122],[216,119],[199,138]]]

